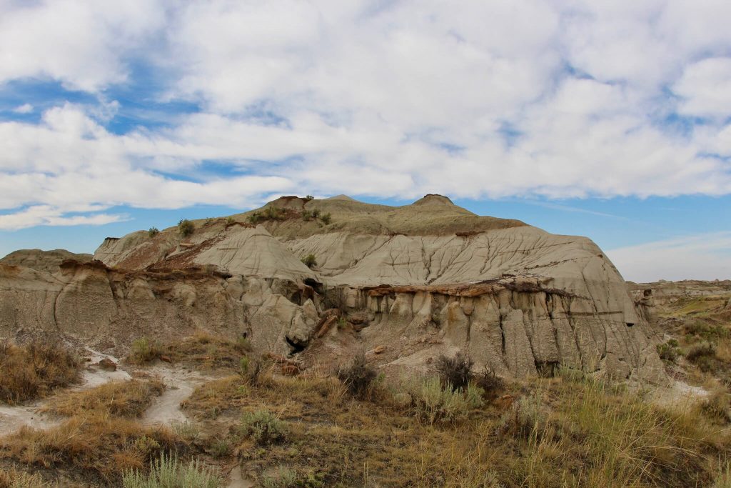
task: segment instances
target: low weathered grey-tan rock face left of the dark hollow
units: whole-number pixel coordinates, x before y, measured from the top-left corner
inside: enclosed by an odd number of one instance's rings
[[[56,274],[0,264],[0,337],[69,334],[101,350],[138,337],[173,339],[197,329],[245,335],[260,350],[289,353],[317,323],[312,299],[281,279],[203,269],[124,272],[66,261]]]

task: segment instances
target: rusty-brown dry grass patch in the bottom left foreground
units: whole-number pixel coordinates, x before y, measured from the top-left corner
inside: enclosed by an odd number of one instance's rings
[[[104,483],[129,470],[143,470],[150,457],[184,451],[169,429],[141,427],[125,418],[102,414],[76,416],[41,430],[22,427],[0,439],[0,457],[43,468],[77,470]]]

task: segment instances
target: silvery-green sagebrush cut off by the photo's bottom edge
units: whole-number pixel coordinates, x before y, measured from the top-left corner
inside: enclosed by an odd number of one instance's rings
[[[150,473],[130,471],[122,480],[124,488],[219,488],[223,481],[198,460],[183,464],[175,456],[164,454],[150,462]]]

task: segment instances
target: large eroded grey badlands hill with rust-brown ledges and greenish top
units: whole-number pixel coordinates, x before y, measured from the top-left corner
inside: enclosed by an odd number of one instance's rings
[[[583,237],[480,217],[441,195],[401,207],[283,197],[192,224],[189,236],[108,238],[94,261],[58,271],[0,264],[0,335],[58,331],[118,350],[208,329],[306,364],[364,349],[386,370],[425,369],[463,351],[515,377],[563,364],[664,379],[624,280]]]

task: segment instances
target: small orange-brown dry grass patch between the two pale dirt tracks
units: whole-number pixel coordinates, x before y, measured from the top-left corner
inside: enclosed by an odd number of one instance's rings
[[[157,380],[105,383],[84,391],[72,391],[51,400],[45,411],[61,416],[107,413],[115,417],[141,416],[155,397],[164,391]]]

